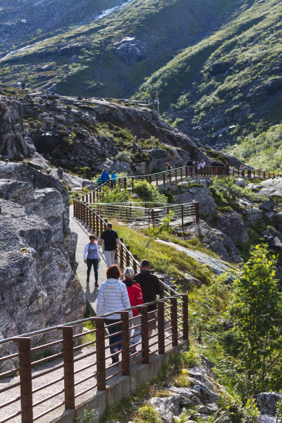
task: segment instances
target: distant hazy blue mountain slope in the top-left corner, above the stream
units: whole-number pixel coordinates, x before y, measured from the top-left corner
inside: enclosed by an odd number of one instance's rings
[[[13,46],[89,23],[124,0],[1,0],[0,55]]]

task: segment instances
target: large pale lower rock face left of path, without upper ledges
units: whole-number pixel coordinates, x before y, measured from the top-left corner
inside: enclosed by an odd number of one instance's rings
[[[53,229],[22,205],[0,199],[0,207],[1,337],[81,319],[84,293]],[[49,340],[46,334],[32,342]]]

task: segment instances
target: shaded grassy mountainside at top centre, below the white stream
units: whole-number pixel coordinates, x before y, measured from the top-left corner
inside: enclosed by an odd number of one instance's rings
[[[241,3],[240,3],[241,4]],[[133,93],[151,73],[164,66],[180,49],[195,44],[216,30],[238,8],[238,0],[133,0],[126,8],[101,21],[79,26],[24,51],[12,62],[1,64],[6,80],[28,77],[31,84],[57,84],[59,93],[113,95]],[[114,53],[113,44],[123,37],[137,37],[146,45],[146,57],[127,65]],[[80,43],[77,62],[58,55],[68,44]],[[52,71],[37,65],[53,62]],[[13,74],[13,75],[12,75]]]

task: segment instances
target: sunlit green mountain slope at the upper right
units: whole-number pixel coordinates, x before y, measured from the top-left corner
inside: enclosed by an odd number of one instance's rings
[[[202,142],[234,142],[282,120],[282,3],[256,0],[144,82],[135,95],[160,105]],[[238,139],[237,141],[240,141]]]

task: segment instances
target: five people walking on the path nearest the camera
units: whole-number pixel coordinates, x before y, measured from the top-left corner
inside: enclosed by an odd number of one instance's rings
[[[122,348],[120,313],[118,310],[129,310],[130,326],[133,326],[133,335],[131,330],[129,336],[131,340],[131,353],[136,352],[136,346],[141,339],[141,316],[138,306],[143,303],[156,301],[158,294],[162,295],[163,289],[159,279],[151,274],[151,263],[149,260],[143,260],[140,265],[140,272],[134,274],[131,267],[126,267],[122,274],[120,267],[115,262],[116,248],[121,248],[118,233],[113,230],[113,225],[108,223],[106,230],[102,232],[100,239],[96,242],[95,235],[89,236],[89,243],[84,247],[84,262],[87,264],[87,282],[91,274],[91,267],[94,268],[95,287],[98,287],[98,264],[101,260],[99,245],[104,241],[104,256],[106,259],[106,281],[100,285],[97,296],[97,315],[109,314],[105,319],[107,329],[109,330],[109,344],[111,358],[114,363],[119,361],[119,354]],[[149,314],[149,338],[156,328],[156,302],[148,306]]]

